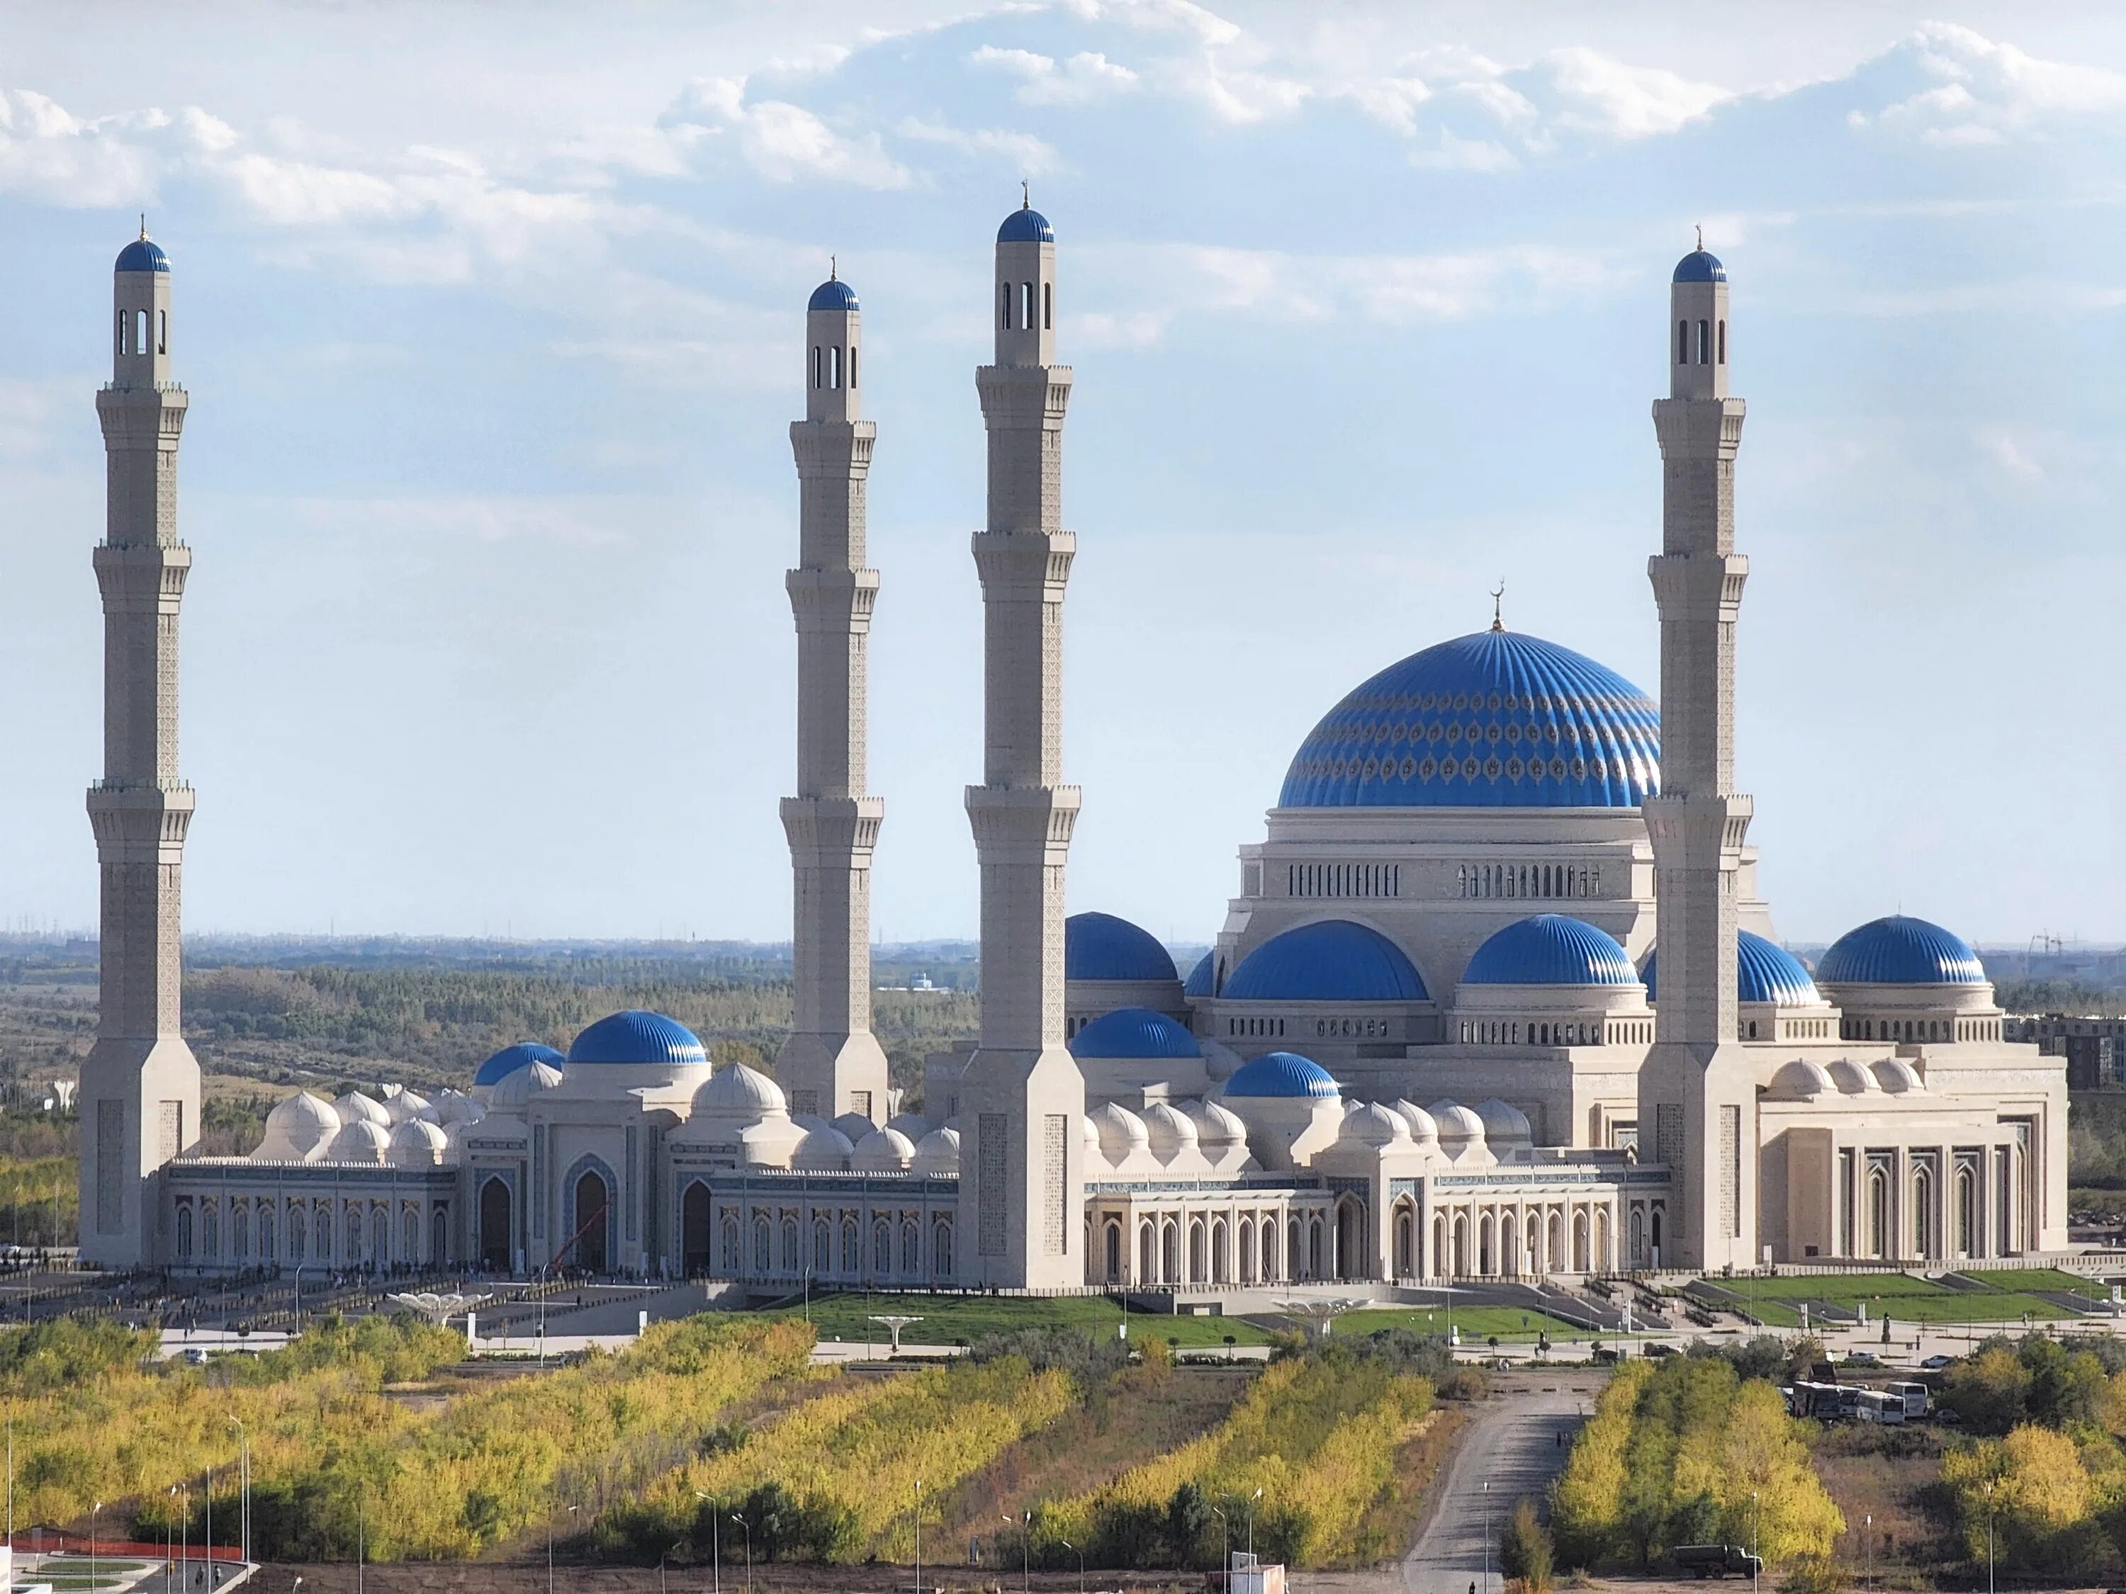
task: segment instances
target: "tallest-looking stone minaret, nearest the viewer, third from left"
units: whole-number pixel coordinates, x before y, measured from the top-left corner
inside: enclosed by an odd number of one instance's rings
[[[997,363],[974,374],[989,427],[982,578],[982,1037],[961,1086],[955,1265],[965,1284],[1084,1284],[1084,1075],[1063,1048],[1063,865],[1078,788],[1063,780],[1063,408],[1057,244],[1020,206],[997,230]],[[1076,1245],[1072,1241],[1078,1241]]]

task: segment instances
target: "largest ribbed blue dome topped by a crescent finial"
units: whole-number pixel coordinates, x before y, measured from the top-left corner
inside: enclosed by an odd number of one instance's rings
[[[1637,808],[1660,710],[1556,642],[1478,631],[1388,665],[1329,710],[1282,808]]]

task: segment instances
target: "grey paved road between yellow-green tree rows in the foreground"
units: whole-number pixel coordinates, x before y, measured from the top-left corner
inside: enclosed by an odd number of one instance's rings
[[[1505,1384],[1463,1430],[1439,1479],[1437,1505],[1418,1543],[1403,1558],[1403,1594],[1499,1594],[1497,1528],[1526,1494],[1541,1503],[1543,1488],[1565,1466],[1580,1428],[1580,1413],[1594,1405],[1601,1384],[1565,1373],[1554,1381]],[[1558,1443],[1558,1435],[1565,1443]],[[1484,1483],[1490,1483],[1490,1588],[1484,1588]]]

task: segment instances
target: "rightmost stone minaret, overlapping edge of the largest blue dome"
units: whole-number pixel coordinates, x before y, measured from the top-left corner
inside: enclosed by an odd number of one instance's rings
[[[1660,795],[1654,844],[1660,1001],[1639,1075],[1639,1150],[1675,1177],[1663,1267],[1756,1260],[1756,1088],[1735,1041],[1735,905],[1750,799],[1735,791],[1735,618],[1750,561],[1735,553],[1726,270],[1703,247],[1669,287],[1663,459]]]

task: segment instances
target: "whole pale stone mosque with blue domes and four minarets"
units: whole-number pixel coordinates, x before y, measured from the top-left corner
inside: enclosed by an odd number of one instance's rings
[[[115,1267],[587,1269],[867,1288],[1144,1288],[1935,1267],[2066,1245],[2066,1078],[2003,1039],[1971,946],[1877,918],[1807,969],[1773,939],[1735,791],[1743,402],[1728,278],[1697,249],[1665,317],[1665,502],[1648,574],[1660,703],[1556,642],[1427,646],[1295,750],[1186,978],[1127,920],[1065,916],[1061,521],[1074,372],[1057,242],[995,244],[980,1037],[895,1090],[870,1031],[865,557],[876,429],[861,310],[810,298],[799,478],[795,1029],[712,1067],[623,1012],[423,1099],[296,1095],[247,1156],[198,1150],[179,1027],[176,536],[187,395],[170,261],[117,261],[98,393],[111,508],[102,1018],[83,1071],[83,1254]],[[1673,334],[1673,336],[1671,336]],[[1422,1105],[1420,1105],[1422,1103]]]

